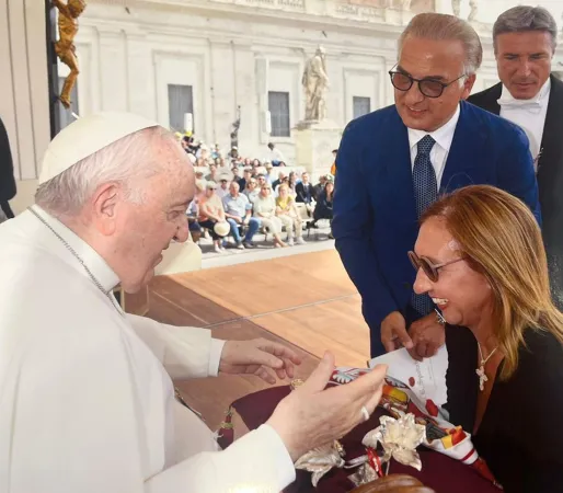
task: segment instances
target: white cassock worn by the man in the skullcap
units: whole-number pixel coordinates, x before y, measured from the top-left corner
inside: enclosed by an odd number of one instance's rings
[[[115,273],[39,207],[103,288]],[[0,492],[279,492],[291,459],[267,425],[219,451],[172,378],[216,376],[222,341],[123,313],[26,210],[0,226]]]

